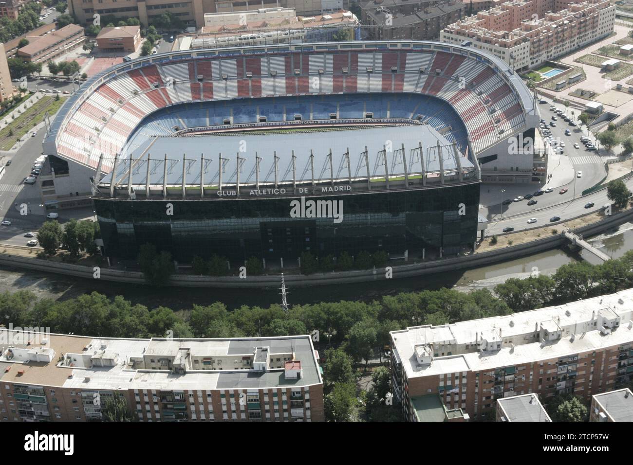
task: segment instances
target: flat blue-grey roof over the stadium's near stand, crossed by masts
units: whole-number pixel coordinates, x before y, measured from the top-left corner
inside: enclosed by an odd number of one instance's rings
[[[385,135],[389,141],[385,141]],[[349,164],[352,177],[367,177],[365,157],[362,153],[367,146],[370,163],[370,175],[384,176],[384,163],[378,152],[385,147],[385,142],[391,143],[392,150],[387,151],[389,175],[404,175],[404,166],[399,154],[394,151],[404,150],[410,159],[410,150],[422,144],[423,160],[412,163],[408,161],[410,173],[423,171],[430,173],[441,171],[440,160],[437,156],[437,144],[442,147],[442,167],[445,172],[457,170],[457,162],[451,144],[429,125],[403,125],[392,127],[368,127],[349,130],[331,130],[326,132],[291,132],[291,133],[260,133],[249,135],[239,133],[234,135],[194,135],[187,137],[158,136],[149,149],[142,153],[132,153],[134,160],[132,170],[132,185],[145,185],[147,164],[150,162],[150,185],[163,184],[163,163],[168,154],[167,184],[180,185],[182,183],[183,158],[186,158],[185,180],[187,184],[200,182],[201,154],[204,156],[204,182],[218,181],[220,166],[219,154],[222,154],[224,170],[223,184],[237,182],[237,155],[241,161],[240,183],[255,182],[255,156],[260,157],[260,182],[272,183],[275,179],[275,154],[277,159],[278,181],[292,182],[292,154],[296,156],[296,180],[311,181],[310,154],[314,156],[315,180],[330,180],[329,152],[332,151],[332,164],[335,179],[347,179],[347,165],[342,160],[343,154],[349,149]],[[294,149],[294,150],[293,150]],[[473,164],[460,156],[462,169],[473,168]],[[129,160],[129,156],[124,156]],[[139,159],[141,161],[139,161]],[[116,169],[116,184],[127,185],[129,161],[120,161]],[[156,169],[158,167],[158,169]],[[342,167],[342,169],[341,169]],[[153,173],[153,174],[152,174]],[[356,175],[358,173],[358,175]],[[355,176],[356,175],[356,176]],[[107,175],[102,184],[110,184],[111,174]]]

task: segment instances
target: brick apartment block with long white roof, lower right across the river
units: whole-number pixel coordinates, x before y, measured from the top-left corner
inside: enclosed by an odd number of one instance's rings
[[[419,397],[490,418],[498,399],[592,395],[633,378],[633,288],[506,316],[391,332],[392,390],[415,421]]]

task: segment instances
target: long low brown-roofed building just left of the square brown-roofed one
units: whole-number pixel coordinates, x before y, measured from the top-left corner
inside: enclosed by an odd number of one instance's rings
[[[29,40],[28,45],[18,49],[19,58],[34,63],[51,61],[80,46],[85,40],[84,28],[69,24],[55,32]]]

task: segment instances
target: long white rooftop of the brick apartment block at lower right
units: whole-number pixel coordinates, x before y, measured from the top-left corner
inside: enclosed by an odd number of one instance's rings
[[[633,289],[627,289],[506,316],[412,326],[391,332],[391,338],[407,376],[415,378],[515,366],[630,342],[632,315]],[[420,345],[430,345],[432,356],[418,357]]]

